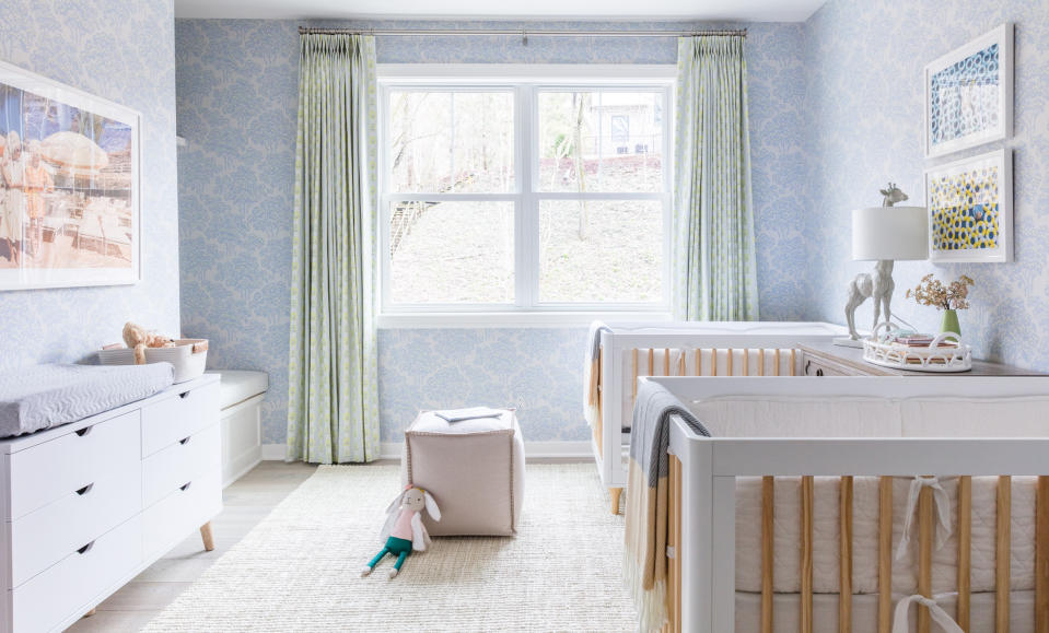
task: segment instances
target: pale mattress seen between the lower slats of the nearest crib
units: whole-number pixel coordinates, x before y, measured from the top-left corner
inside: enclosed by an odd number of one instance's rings
[[[895,601],[904,597],[894,596]],[[936,603],[952,618],[956,614],[957,595],[936,594]],[[994,633],[994,593],[972,594],[969,607],[969,633]],[[1010,595],[1010,633],[1033,633],[1035,630],[1034,591],[1012,591]],[[797,594],[777,594],[772,598],[772,622],[776,633],[797,633],[801,597]],[[917,631],[918,608],[910,609],[909,631]],[[894,611],[895,613],[895,611]],[[933,631],[940,629],[933,625]],[[736,591],[736,633],[761,631],[761,595]],[[838,631],[838,596],[813,596],[813,631]],[[877,596],[852,597],[852,632],[877,633]]]

